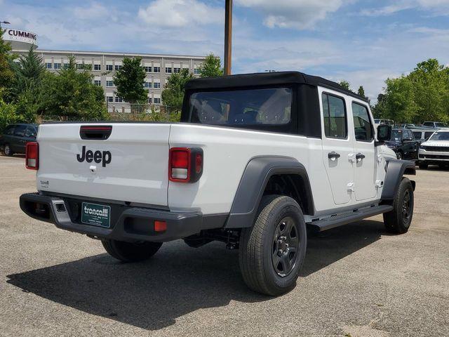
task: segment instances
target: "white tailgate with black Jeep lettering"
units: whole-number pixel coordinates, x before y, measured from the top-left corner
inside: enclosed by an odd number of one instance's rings
[[[112,131],[81,139],[81,126]],[[42,124],[37,190],[167,206],[169,136],[170,124]]]

